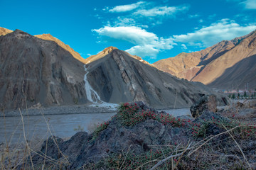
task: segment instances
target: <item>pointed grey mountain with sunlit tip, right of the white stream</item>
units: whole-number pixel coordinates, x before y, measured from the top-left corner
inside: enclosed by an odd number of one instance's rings
[[[102,101],[181,108],[211,92],[201,83],[178,79],[116,47],[107,47],[87,61],[87,79]]]

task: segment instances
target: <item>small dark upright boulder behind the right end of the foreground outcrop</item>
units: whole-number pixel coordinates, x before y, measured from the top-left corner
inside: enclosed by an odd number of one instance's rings
[[[201,95],[199,101],[194,103],[191,108],[191,115],[193,118],[198,118],[203,111],[210,111],[215,113],[217,111],[217,102],[215,95]]]

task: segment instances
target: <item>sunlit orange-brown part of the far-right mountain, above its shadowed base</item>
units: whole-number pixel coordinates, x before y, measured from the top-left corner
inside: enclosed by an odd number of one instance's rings
[[[181,53],[176,57],[159,60],[154,63],[154,66],[176,77],[189,81],[200,81],[215,88],[217,83],[214,83],[214,81],[224,74],[226,69],[233,67],[247,57],[255,55],[255,43],[256,30],[233,40],[223,40],[199,52]],[[222,84],[220,81],[218,83]],[[227,82],[225,84],[227,85]],[[231,86],[233,85],[229,84],[223,86],[223,88],[230,89]],[[242,85],[237,84],[235,88],[242,88]]]

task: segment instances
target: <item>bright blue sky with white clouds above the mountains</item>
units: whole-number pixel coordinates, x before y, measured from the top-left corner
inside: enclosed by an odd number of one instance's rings
[[[0,27],[50,33],[84,58],[114,46],[149,63],[256,30],[256,0],[0,0]]]

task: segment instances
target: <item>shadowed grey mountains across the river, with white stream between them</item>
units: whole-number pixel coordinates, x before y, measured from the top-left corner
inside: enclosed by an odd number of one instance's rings
[[[0,35],[3,109],[98,101],[181,108],[191,106],[201,94],[213,93],[199,82],[178,79],[116,47],[82,59],[51,35],[4,29]]]

